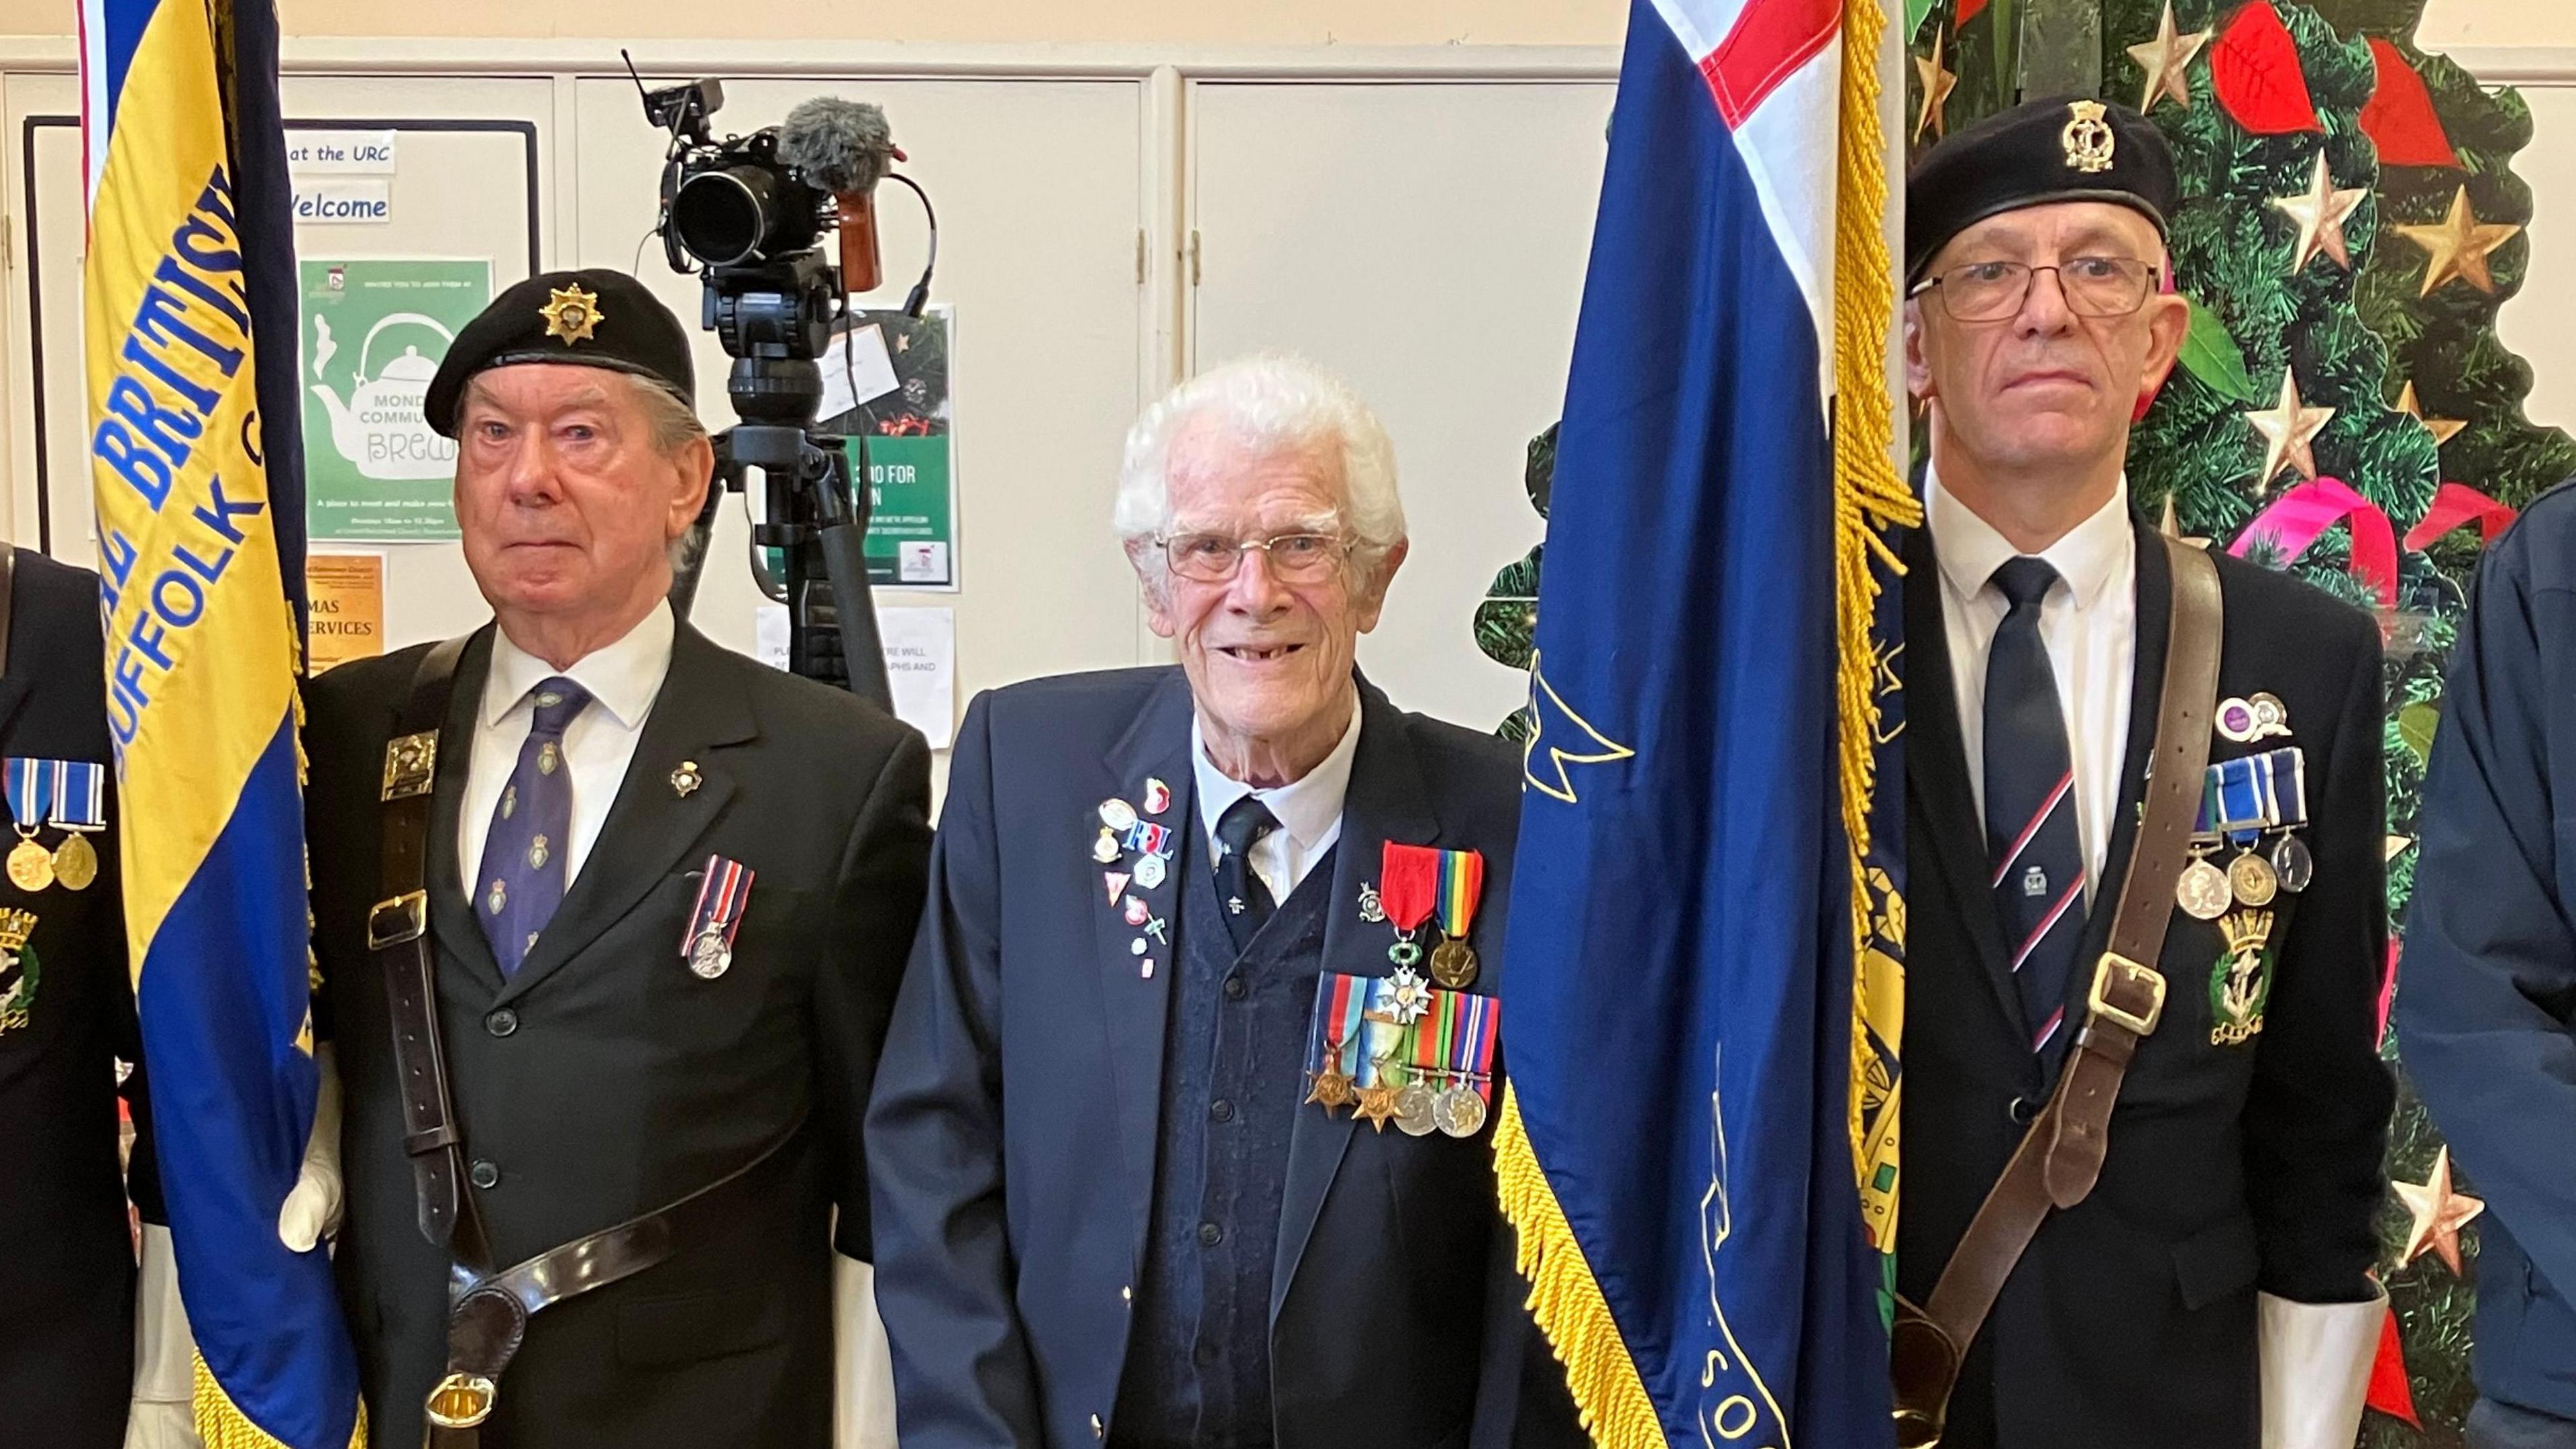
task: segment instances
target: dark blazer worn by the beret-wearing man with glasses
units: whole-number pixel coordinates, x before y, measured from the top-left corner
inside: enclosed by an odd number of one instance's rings
[[[2138,650],[2120,812],[2069,993],[2081,1021],[2092,962],[2128,871],[2164,683],[2172,559],[2138,523]],[[2226,598],[2218,696],[2272,691],[2308,773],[2316,882],[2280,895],[2264,1029],[2210,1042],[2215,923],[2179,908],[2164,938],[2164,1024],[2138,1047],[2092,1196],[2050,1214],[1978,1336],[1947,1449],[2254,1449],[2257,1289],[2360,1302],[2383,1196],[2393,1088],[2378,1060],[2385,962],[2380,637],[2287,575],[2215,557]],[[1906,541],[1906,1044],[1899,1289],[1922,1302],[2053,1083],[1986,882],[1986,841],[1958,735],[1940,565]]]

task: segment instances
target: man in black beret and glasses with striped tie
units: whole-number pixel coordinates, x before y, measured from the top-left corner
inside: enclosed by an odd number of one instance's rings
[[[2084,98],[1906,183],[1896,1274],[1965,1348],[1947,1449],[2347,1449],[2385,1315],[2380,637],[2133,513],[2177,204]]]

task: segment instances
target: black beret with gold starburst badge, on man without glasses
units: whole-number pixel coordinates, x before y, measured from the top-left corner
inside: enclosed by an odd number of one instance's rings
[[[513,364],[605,366],[649,376],[680,397],[698,394],[688,330],[662,299],[623,271],[549,271],[502,291],[456,333],[420,410],[440,436],[456,436],[456,405],[477,371]]]

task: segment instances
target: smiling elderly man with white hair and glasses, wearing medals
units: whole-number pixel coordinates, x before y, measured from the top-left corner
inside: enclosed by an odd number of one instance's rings
[[[969,706],[868,1111],[904,1446],[1584,1444],[1486,1142],[1520,761],[1352,663],[1386,431],[1218,366],[1115,523],[1180,665]]]

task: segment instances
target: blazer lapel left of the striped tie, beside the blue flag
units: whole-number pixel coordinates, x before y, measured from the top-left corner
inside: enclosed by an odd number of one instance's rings
[[[2004,951],[2004,926],[1994,915],[1994,890],[1986,879],[1986,830],[1968,789],[1968,750],[1958,732],[1958,691],[1950,688],[1950,632],[1942,624],[1940,562],[1932,557],[1932,531],[1911,529],[1906,559],[1906,792],[1929,825],[1927,848],[1909,848],[1906,864],[1932,861],[1932,874],[1950,892],[1950,908],[1976,941],[1981,975],[1994,987],[1994,1003],[2012,1026],[2014,1042],[2030,1042],[2022,1021],[2020,987],[2012,985],[2012,957]]]

